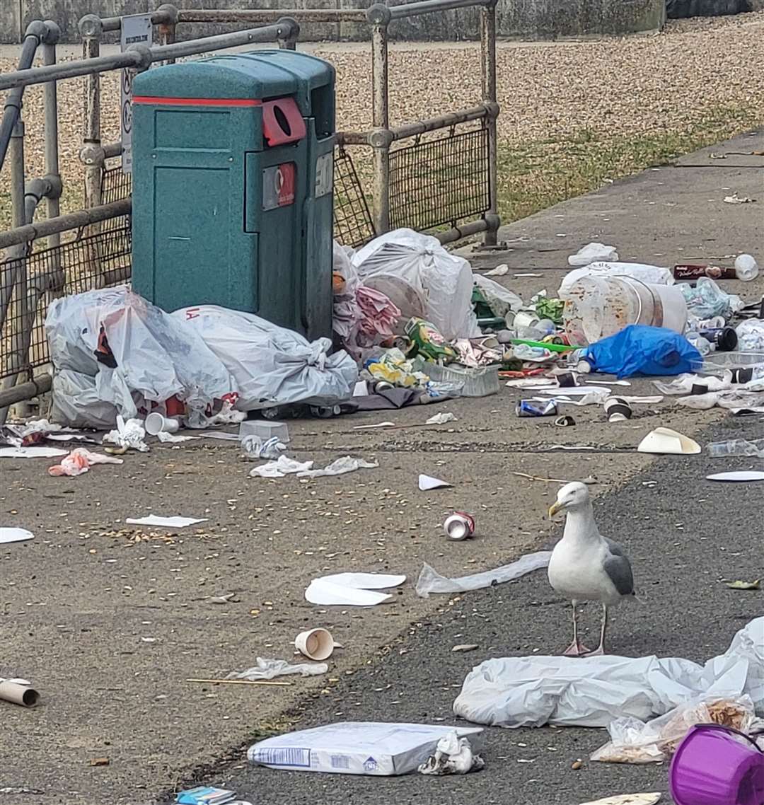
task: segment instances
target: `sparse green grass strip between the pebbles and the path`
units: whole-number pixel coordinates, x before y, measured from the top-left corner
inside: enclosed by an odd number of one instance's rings
[[[502,223],[518,221],[584,193],[607,180],[666,165],[698,148],[750,130],[762,122],[754,109],[720,106],[683,130],[646,131],[637,136],[581,130],[522,146],[500,142],[498,212]],[[617,124],[615,124],[617,125]]]

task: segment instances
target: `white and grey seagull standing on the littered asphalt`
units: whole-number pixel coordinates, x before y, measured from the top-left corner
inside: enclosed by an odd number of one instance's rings
[[[557,493],[549,517],[566,510],[563,538],[555,545],[549,560],[549,584],[573,603],[573,642],[564,651],[568,657],[605,654],[608,609],[624,598],[634,597],[634,576],[623,548],[600,534],[585,484],[574,481]],[[576,605],[579,601],[600,601],[602,630],[600,645],[589,651],[578,639]]]

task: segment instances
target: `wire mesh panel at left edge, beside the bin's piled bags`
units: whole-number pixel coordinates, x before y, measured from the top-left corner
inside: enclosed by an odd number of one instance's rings
[[[109,226],[99,233],[86,234],[81,229],[74,240],[61,246],[0,263],[0,301],[10,296],[0,337],[0,378],[16,374],[17,370],[29,374],[30,369],[50,360],[44,324],[52,299],[118,285],[130,278],[130,219],[114,218],[107,223]],[[28,278],[26,306],[19,286],[13,285],[24,263]],[[19,349],[24,351],[24,333],[29,332],[30,325],[31,333],[26,336],[30,339],[29,354],[19,366],[16,355]]]

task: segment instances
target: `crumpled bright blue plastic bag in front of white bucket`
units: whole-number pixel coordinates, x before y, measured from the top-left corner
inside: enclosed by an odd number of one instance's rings
[[[665,327],[630,324],[614,336],[591,345],[584,360],[593,372],[634,375],[682,374],[697,372],[703,357],[679,332]]]

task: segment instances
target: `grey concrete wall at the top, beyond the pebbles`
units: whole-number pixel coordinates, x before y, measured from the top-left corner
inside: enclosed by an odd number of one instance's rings
[[[111,17],[142,14],[162,0],[0,0],[0,42],[18,42],[32,19],[53,19],[64,41],[78,42],[77,21],[85,14]],[[180,8],[366,8],[373,0],[176,0]],[[394,2],[390,2],[393,5]],[[499,35],[523,39],[626,34],[663,26],[665,0],[498,0]],[[477,9],[460,9],[402,20],[391,27],[397,39],[474,39]],[[226,27],[182,25],[179,39],[219,33]],[[342,23],[303,27],[304,39],[364,39],[365,26]],[[114,39],[112,39],[114,41]]]

